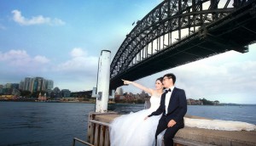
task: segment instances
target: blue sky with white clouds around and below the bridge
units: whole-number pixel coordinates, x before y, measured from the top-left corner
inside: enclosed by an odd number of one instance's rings
[[[96,87],[102,49],[112,57],[134,25],[160,0],[0,0],[0,84],[42,76],[71,91]],[[256,104],[256,45],[162,71],[138,80],[177,75],[187,98]],[[135,87],[125,91],[140,93]]]

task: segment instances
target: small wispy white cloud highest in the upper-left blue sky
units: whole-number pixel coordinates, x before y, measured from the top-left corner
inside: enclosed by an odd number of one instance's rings
[[[13,20],[15,22],[19,23],[20,25],[41,25],[41,24],[47,24],[47,25],[64,25],[65,22],[60,19],[51,19],[49,17],[44,17],[42,15],[38,15],[35,17],[32,17],[31,19],[26,19],[24,16],[22,16],[21,12],[17,9],[12,11]]]

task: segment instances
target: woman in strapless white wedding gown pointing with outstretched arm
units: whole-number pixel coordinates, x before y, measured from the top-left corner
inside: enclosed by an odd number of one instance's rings
[[[131,84],[149,93],[151,95],[151,106],[148,110],[140,110],[136,113],[131,112],[128,115],[121,115],[118,118],[115,118],[110,124],[111,146],[154,145],[154,134],[161,115],[152,116],[147,120],[144,120],[144,118],[157,110],[160,106],[160,98],[163,93],[162,80],[162,77],[156,79],[155,89],[143,87],[134,81],[123,80],[124,84]]]

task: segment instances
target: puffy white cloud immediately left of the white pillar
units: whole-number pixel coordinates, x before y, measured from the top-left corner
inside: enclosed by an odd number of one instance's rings
[[[71,91],[91,90],[96,86],[98,57],[88,55],[83,48],[73,48],[69,54],[71,59],[53,69],[56,85]]]

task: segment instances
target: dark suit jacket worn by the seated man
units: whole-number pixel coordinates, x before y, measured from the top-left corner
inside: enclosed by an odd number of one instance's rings
[[[165,116],[167,123],[171,120],[174,120],[176,122],[183,122],[183,117],[187,112],[187,100],[184,90],[177,87],[173,88],[167,114],[165,103],[166,93],[163,93],[161,96],[160,107],[155,110],[151,115],[148,115],[148,117],[152,115],[163,114],[162,116]]]

